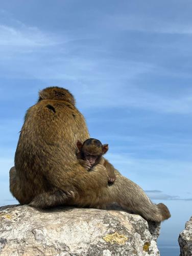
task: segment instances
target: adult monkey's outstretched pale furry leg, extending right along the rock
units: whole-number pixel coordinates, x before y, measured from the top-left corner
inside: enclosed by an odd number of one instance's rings
[[[164,204],[153,204],[137,184],[119,174],[117,170],[115,170],[116,181],[111,186],[105,186],[107,175],[101,165],[95,167],[94,172],[89,174],[90,180],[97,180],[98,184],[99,180],[101,181],[100,186],[97,187],[97,183],[93,182],[87,184],[87,187],[84,184],[87,194],[84,191],[81,199],[76,201],[77,205],[81,203],[81,205],[105,209],[107,205],[115,202],[123,209],[139,214],[146,220],[160,222],[171,217],[169,209]]]

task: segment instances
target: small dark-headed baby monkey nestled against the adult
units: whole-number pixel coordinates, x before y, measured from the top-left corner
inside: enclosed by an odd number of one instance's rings
[[[83,143],[77,142],[79,163],[87,170],[90,170],[96,164],[102,164],[106,167],[109,174],[108,183],[114,183],[116,180],[114,167],[103,155],[108,151],[108,144],[103,144],[97,139],[87,139]]]

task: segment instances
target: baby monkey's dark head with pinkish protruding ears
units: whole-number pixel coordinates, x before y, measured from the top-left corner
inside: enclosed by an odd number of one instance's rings
[[[109,148],[108,144],[102,145],[101,141],[92,138],[85,140],[83,143],[78,140],[77,147],[82,158],[89,161],[91,166],[97,164]]]

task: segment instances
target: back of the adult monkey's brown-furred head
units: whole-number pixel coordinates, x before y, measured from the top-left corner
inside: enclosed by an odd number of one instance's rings
[[[40,91],[38,101],[43,99],[64,100],[75,105],[74,96],[68,90],[57,86],[47,87]]]

